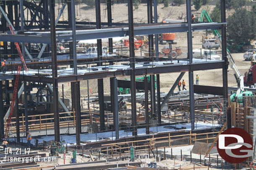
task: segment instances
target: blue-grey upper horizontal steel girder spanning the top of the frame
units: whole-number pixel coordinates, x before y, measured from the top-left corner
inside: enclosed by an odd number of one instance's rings
[[[219,30],[222,25],[227,23],[196,23],[192,24],[192,31],[201,30]],[[187,23],[178,24],[148,24],[148,26],[136,26],[134,27],[134,35],[148,35],[148,34],[161,34],[161,33],[178,33],[187,32]],[[50,44],[50,31],[36,32],[27,31],[22,35],[9,35],[0,34],[0,41],[5,42],[21,42],[21,43],[47,43]],[[128,27],[124,28],[105,28],[96,30],[76,30],[76,40],[89,40],[89,39],[101,39],[112,37],[124,37],[129,36]],[[72,31],[56,31],[57,41],[68,42],[72,41]]]

